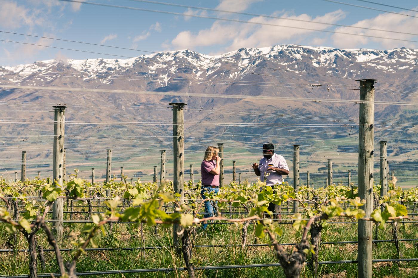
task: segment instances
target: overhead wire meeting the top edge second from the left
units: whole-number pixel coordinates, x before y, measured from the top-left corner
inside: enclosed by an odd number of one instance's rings
[[[165,3],[165,2],[148,1],[148,0],[130,0],[130,1],[157,4],[157,5],[166,5],[166,6],[172,6],[172,7],[190,8],[190,9],[194,9],[194,10],[209,10],[209,11],[212,11],[212,12],[232,13],[232,14],[236,14],[236,15],[250,15],[250,16],[256,16],[256,17],[263,17],[263,18],[283,19],[283,20],[292,20],[292,21],[298,21],[298,22],[315,23],[315,24],[322,24],[322,25],[329,25],[329,26],[338,26],[338,27],[348,27],[348,28],[356,28],[356,29],[364,29],[364,30],[382,31],[382,32],[398,33],[398,34],[405,34],[405,35],[418,35],[418,34],[413,34],[413,33],[403,33],[403,32],[398,32],[398,31],[391,31],[391,30],[382,30],[382,29],[375,29],[375,28],[350,26],[350,25],[343,25],[343,24],[336,24],[336,23],[325,23],[325,22],[319,22],[319,21],[313,21],[313,20],[302,20],[302,19],[296,19],[296,18],[284,18],[284,17],[274,16],[274,15],[258,15],[258,14],[255,14],[255,13],[234,12],[234,11],[230,11],[230,10],[219,10],[219,9],[212,9],[212,8],[206,8],[206,7],[196,7],[196,6],[174,4],[174,3]],[[185,16],[187,16],[187,15],[185,15]]]

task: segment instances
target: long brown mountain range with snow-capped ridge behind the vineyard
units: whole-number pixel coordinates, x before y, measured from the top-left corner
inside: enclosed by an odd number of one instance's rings
[[[0,130],[3,134],[43,136],[42,124],[43,121],[49,123],[52,104],[65,103],[69,106],[66,142],[70,140],[74,146],[84,146],[84,149],[97,146],[97,139],[92,138],[98,134],[112,137],[112,142],[100,144],[103,148],[112,144],[138,146],[135,145],[138,136],[141,144],[170,146],[171,135],[167,134],[170,133],[171,111],[167,104],[182,101],[188,104],[185,110],[188,134],[195,138],[187,146],[191,149],[219,139],[231,144],[267,139],[294,144],[306,138],[351,136],[355,129],[349,127],[356,124],[358,105],[338,100],[359,99],[356,79],[379,80],[375,85],[376,101],[417,103],[417,63],[418,49],[380,51],[275,45],[241,48],[216,56],[180,50],[126,59],[53,59],[0,66],[3,113],[10,111],[7,113],[10,119],[31,119],[40,124],[33,127],[22,122],[5,122]],[[316,86],[319,84],[321,86]],[[68,90],[54,91],[52,87]],[[388,88],[393,91],[384,90]],[[226,98],[225,95],[233,96]],[[263,99],[265,96],[270,99]],[[334,99],[336,102],[300,99]],[[416,106],[376,105],[375,118],[380,122],[399,119],[405,123],[418,122],[416,113],[410,114],[413,109]],[[71,124],[71,121],[84,124]],[[87,124],[90,121],[107,122],[110,127],[105,129],[103,124],[95,124],[93,129]],[[127,122],[156,124],[124,125]],[[202,122],[205,124],[199,125]],[[243,123],[249,125],[237,126]],[[287,125],[281,127],[280,124]],[[324,126],[326,124],[330,125]],[[344,124],[348,128],[332,127]],[[115,125],[117,128],[113,129]],[[121,126],[126,126],[125,130],[121,131]],[[51,127],[49,125],[48,129]],[[394,140],[399,142],[408,140],[406,131],[410,129],[415,126],[400,127],[397,131],[376,129],[375,132],[379,136],[398,134],[399,138]],[[165,134],[161,136],[163,131]],[[20,147],[29,141],[19,142]],[[3,144],[16,147],[13,140]],[[38,144],[41,141],[35,145]],[[306,144],[312,142],[306,141]],[[41,151],[38,153],[44,157]]]

